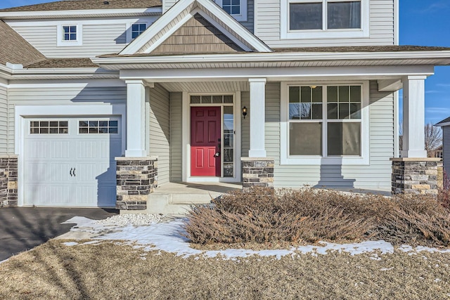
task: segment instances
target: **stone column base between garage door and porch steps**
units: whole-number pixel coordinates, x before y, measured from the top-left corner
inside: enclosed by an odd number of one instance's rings
[[[116,157],[117,209],[147,209],[148,194],[158,186],[158,157]]]

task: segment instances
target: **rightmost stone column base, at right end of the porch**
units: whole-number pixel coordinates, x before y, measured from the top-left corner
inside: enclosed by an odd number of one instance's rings
[[[437,195],[437,164],[439,158],[391,158],[392,195]]]

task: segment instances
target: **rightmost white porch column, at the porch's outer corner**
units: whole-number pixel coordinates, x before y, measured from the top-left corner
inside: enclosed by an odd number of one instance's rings
[[[425,151],[425,79],[407,76],[403,82],[403,150],[401,157],[427,157]]]

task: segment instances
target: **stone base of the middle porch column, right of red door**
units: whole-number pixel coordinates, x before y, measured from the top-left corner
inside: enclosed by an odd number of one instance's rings
[[[244,192],[250,188],[274,188],[274,159],[267,157],[241,157]]]

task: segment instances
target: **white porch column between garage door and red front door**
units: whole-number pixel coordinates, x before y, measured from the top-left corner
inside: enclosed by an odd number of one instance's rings
[[[142,80],[127,80],[127,149],[125,157],[146,157],[146,89]]]

